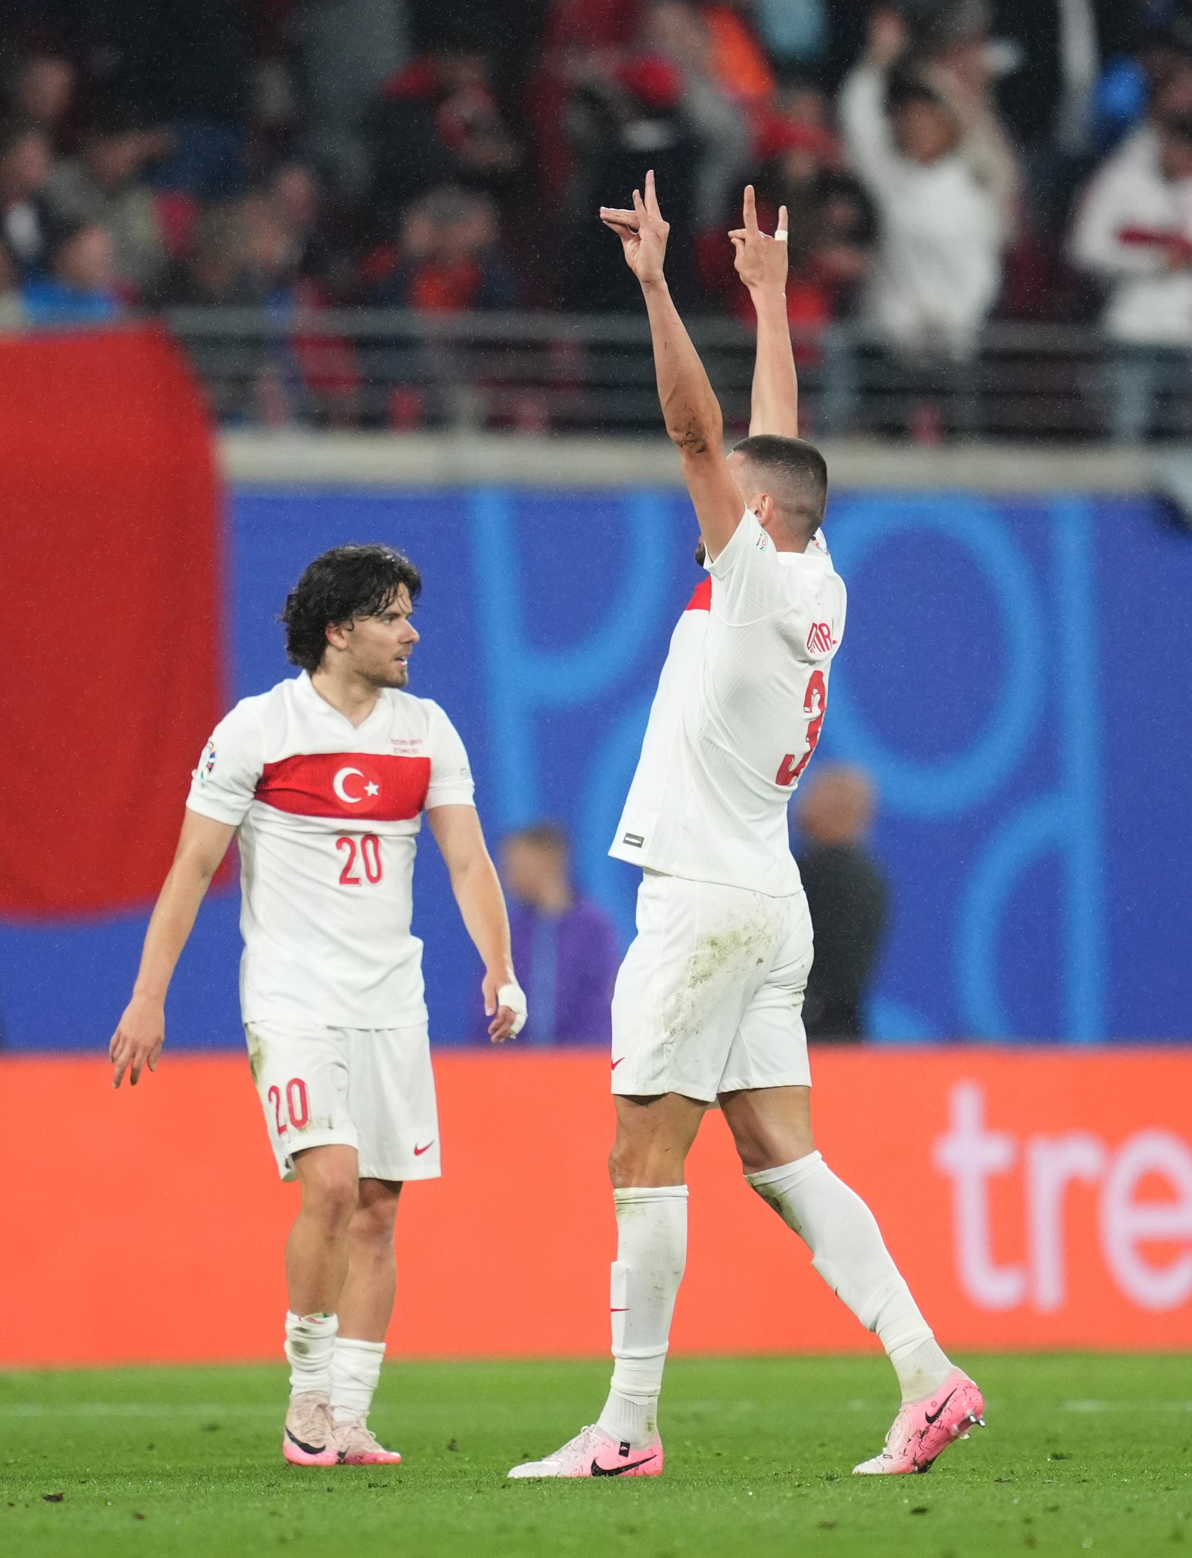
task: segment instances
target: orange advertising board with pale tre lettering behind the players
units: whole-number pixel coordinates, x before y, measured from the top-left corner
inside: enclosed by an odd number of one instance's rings
[[[397,1357],[600,1355],[614,1251],[608,1059],[444,1053],[444,1178],[399,1215]],[[1192,1348],[1192,1056],[818,1052],[816,1134],[946,1346]],[[112,1092],[83,1058],[0,1063],[0,1365],[280,1355],[277,1181],[248,1064],[168,1055]],[[876,1348],[742,1181],[690,1159],[675,1349]]]

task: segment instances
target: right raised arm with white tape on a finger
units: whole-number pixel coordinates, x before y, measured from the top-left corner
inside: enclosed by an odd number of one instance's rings
[[[787,207],[778,213],[773,237],[757,226],[753,184],[745,185],[742,226],[729,232],[734,265],[749,288],[757,315],[757,358],[753,369],[749,436],[799,436],[799,386],[787,321]]]

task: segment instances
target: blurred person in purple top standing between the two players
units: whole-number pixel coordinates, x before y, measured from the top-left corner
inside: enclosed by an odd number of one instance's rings
[[[500,874],[530,1019],[524,1044],[608,1044],[620,947],[617,930],[570,880],[570,846],[555,823],[522,827],[503,841]],[[475,1036],[486,1039],[488,1019]]]

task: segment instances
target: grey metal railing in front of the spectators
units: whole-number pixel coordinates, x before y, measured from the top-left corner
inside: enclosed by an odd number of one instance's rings
[[[650,332],[628,315],[176,308],[165,323],[231,425],[658,430]],[[723,318],[695,318],[690,333],[728,430],[743,430],[753,333]],[[1105,438],[1113,354],[1084,326],[993,324],[971,363],[901,360],[832,326],[796,337],[796,355],[815,436]],[[1184,388],[1161,386],[1156,435],[1184,433],[1186,413]]]

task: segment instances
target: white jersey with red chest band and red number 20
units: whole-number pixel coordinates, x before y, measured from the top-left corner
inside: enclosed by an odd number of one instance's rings
[[[430,698],[386,689],[354,726],[302,671],[215,726],[187,805],[237,827],[245,1022],[425,1022],[410,933],[422,812],[472,805],[467,753]]]

